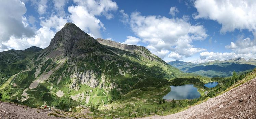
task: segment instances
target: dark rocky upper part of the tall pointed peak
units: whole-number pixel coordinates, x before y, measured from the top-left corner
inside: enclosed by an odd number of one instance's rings
[[[86,53],[95,52],[102,48],[100,47],[100,44],[94,38],[83,32],[75,24],[66,23],[56,33],[50,45],[43,50],[42,54],[58,53],[57,55],[71,59],[74,57],[85,57]]]

